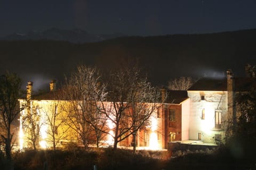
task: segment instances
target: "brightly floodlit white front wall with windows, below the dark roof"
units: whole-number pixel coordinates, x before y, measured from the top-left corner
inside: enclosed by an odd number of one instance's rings
[[[227,114],[227,92],[226,91],[188,91],[190,98],[189,116],[189,139],[198,140],[198,133],[201,133],[201,140],[206,143],[214,143],[215,134],[223,131],[215,129],[215,111],[221,111],[221,122]],[[201,100],[204,96],[204,100]],[[205,119],[202,119],[202,110],[205,109]]]

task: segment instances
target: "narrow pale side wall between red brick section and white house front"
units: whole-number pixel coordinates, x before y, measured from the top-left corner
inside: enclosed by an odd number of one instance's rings
[[[186,99],[181,104],[181,140],[189,140],[189,113],[190,99]]]

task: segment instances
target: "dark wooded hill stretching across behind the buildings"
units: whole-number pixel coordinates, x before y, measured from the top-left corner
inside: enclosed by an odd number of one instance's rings
[[[6,70],[18,73],[25,84],[33,81],[38,89],[51,79],[61,82],[63,75],[68,75],[77,64],[111,69],[125,64],[127,58],[135,58],[149,81],[166,86],[168,80],[181,76],[224,77],[227,69],[241,77],[245,75],[245,64],[256,64],[256,29],[71,42],[1,40],[0,74]]]

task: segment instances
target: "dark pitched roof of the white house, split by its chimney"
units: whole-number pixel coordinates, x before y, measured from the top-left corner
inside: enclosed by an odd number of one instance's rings
[[[247,91],[256,87],[255,78],[234,78],[235,91]],[[193,84],[188,90],[195,91],[227,91],[227,78],[214,79],[202,78]]]

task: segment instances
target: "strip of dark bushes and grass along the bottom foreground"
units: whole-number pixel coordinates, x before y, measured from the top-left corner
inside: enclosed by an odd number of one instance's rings
[[[181,151],[179,151],[182,153]],[[188,153],[188,152],[186,152]],[[173,157],[175,155],[175,157]],[[251,155],[252,156],[252,155]],[[256,169],[254,157],[239,157],[227,147],[211,152],[172,154],[168,151],[112,148],[27,150],[13,154],[14,169]],[[10,162],[1,156],[1,169]]]

